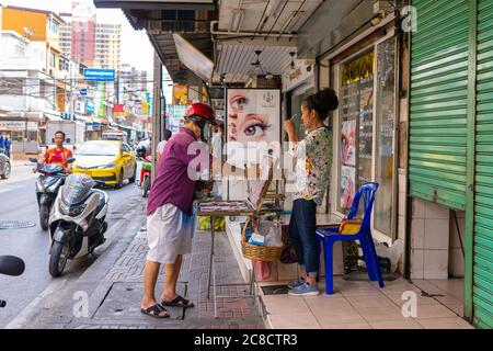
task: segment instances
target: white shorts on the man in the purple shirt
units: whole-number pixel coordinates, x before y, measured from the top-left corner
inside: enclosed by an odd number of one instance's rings
[[[187,216],[172,204],[164,204],[147,217],[149,261],[174,263],[177,254],[192,252],[195,216]]]

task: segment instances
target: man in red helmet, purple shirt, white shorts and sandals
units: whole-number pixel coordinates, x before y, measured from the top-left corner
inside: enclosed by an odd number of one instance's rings
[[[192,251],[195,226],[192,208],[195,179],[190,174],[207,169],[213,162],[209,151],[196,141],[204,140],[207,126],[215,124],[215,112],[209,105],[190,105],[184,126],[168,140],[158,163],[147,206],[149,252],[144,273],[142,314],[167,318],[164,306],[194,306],[176,293],[176,282],[182,256]],[[161,264],[165,270],[164,287],[157,302],[154,287]]]

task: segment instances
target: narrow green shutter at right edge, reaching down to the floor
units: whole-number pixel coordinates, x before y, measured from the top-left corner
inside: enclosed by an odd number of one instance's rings
[[[493,328],[493,0],[478,3],[475,133],[472,305],[474,324]]]

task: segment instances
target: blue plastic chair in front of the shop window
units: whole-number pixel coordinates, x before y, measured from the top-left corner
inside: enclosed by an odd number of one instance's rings
[[[359,240],[365,256],[366,268],[370,281],[378,281],[378,285],[383,287],[383,280],[378,264],[377,250],[375,249],[374,239],[371,237],[370,222],[371,210],[374,207],[375,193],[377,192],[378,183],[366,183],[362,185],[353,199],[348,219],[355,219],[358,213],[359,201],[363,196],[364,214],[362,228],[355,235],[341,235],[339,228],[320,228],[317,230],[318,248],[320,249],[320,241],[323,242],[323,257],[325,260],[325,294],[332,295],[334,293],[333,281],[333,246],[335,241]]]

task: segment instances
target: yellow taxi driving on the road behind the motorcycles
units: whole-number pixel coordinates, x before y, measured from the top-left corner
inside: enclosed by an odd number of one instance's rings
[[[85,141],[73,155],[73,173],[122,188],[124,180],[135,182],[137,161],[128,144],[116,140]]]

